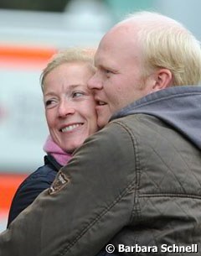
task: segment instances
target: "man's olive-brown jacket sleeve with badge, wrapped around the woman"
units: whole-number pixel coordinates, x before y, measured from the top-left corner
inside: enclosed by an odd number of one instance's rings
[[[1,256],[92,256],[131,219],[136,184],[130,134],[110,124],[0,236]],[[59,180],[59,181],[58,181]]]

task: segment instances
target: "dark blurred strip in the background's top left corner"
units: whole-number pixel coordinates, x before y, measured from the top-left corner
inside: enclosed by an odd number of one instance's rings
[[[70,0],[0,0],[0,8],[14,10],[64,12]]]

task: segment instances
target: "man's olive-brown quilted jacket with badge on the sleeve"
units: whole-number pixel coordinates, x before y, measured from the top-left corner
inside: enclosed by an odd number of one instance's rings
[[[108,243],[120,255],[201,253],[201,151],[151,114],[114,119],[88,138],[0,235],[0,255],[95,256]]]

